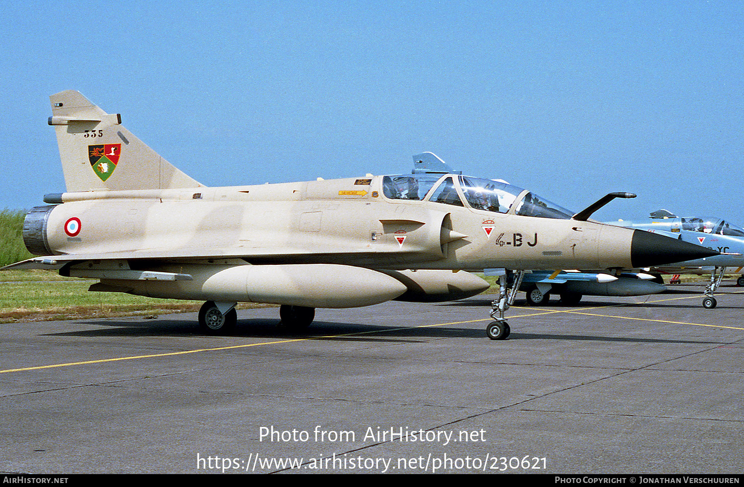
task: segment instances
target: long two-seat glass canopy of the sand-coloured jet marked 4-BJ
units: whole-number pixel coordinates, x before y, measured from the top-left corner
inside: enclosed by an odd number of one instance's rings
[[[538,218],[571,219],[575,213],[521,187],[493,179],[454,174],[384,176],[382,194],[388,199],[428,200],[460,207],[468,206],[474,210],[516,213],[520,216]]]

